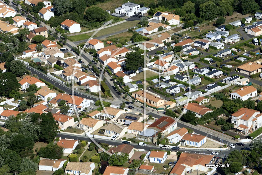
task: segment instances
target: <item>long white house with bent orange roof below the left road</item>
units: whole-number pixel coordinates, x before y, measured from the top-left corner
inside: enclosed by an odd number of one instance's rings
[[[66,104],[70,106],[71,109],[77,110],[78,112],[82,111],[85,108],[90,106],[90,100],[82,97],[72,96],[68,94],[58,94],[55,98],[53,98],[49,104],[53,107],[57,107],[58,103],[61,100],[65,100]]]

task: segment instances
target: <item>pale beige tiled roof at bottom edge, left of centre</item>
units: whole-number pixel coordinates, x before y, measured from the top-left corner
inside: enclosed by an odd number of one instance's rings
[[[92,163],[94,162],[68,162],[67,166],[65,167],[65,170],[80,171],[80,174],[89,174],[91,172]]]

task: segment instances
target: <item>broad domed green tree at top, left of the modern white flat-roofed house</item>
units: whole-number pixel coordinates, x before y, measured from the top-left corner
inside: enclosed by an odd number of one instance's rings
[[[85,11],[84,19],[90,22],[103,22],[109,17],[109,14],[100,7],[91,7]]]

